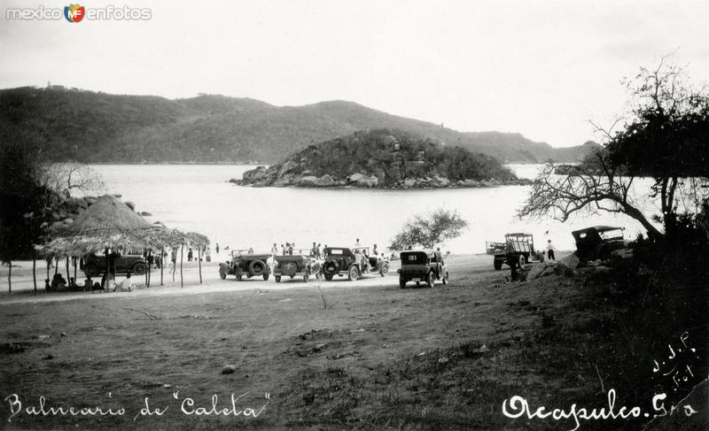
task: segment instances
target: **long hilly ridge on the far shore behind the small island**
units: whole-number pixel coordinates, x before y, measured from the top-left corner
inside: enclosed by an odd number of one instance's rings
[[[0,90],[0,136],[12,138],[20,130],[32,135],[54,161],[270,164],[310,143],[378,128],[399,129],[508,163],[576,161],[587,149],[555,149],[519,134],[461,133],[346,101],[275,106],[249,98],[169,100],[58,86]]]

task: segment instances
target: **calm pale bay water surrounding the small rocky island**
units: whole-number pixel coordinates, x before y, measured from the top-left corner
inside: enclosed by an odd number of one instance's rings
[[[205,234],[222,249],[270,250],[273,242],[312,242],[331,246],[364,244],[385,248],[413,214],[443,207],[456,210],[470,227],[443,250],[485,251],[486,241],[502,241],[507,232],[530,232],[537,244],[551,239],[573,249],[571,231],[596,224],[627,227],[635,237],[643,228],[633,219],[604,214],[576,217],[564,224],[551,219],[522,221],[515,212],[530,187],[487,189],[377,190],[248,188],[227,182],[241,178],[248,165],[92,165],[105,192],[119,193],[151,212],[150,221]],[[534,178],[541,165],[510,165],[520,177]],[[652,205],[647,201],[648,205]],[[214,249],[213,249],[214,250]]]

